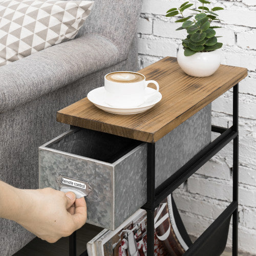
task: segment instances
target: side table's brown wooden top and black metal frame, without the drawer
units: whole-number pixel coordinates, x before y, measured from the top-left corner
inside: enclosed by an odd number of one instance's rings
[[[155,207],[193,175],[212,156],[233,140],[233,200],[222,214],[201,234],[184,255],[205,255],[207,241],[232,215],[232,255],[238,254],[238,82],[247,69],[221,65],[210,77],[191,77],[178,66],[177,59],[166,57],[139,71],[147,80],[156,80],[162,100],[145,113],[121,116],[97,109],[87,98],[57,112],[57,121],[147,143],[147,255],[154,255]],[[155,187],[155,142],[178,125],[233,88],[233,125],[212,125],[220,136],[184,164],[174,175]],[[75,233],[70,238],[70,255],[75,252]],[[211,255],[207,252],[207,255]]]

